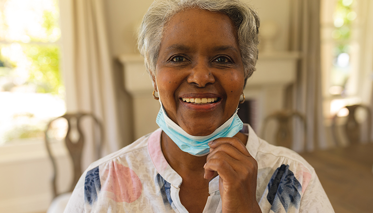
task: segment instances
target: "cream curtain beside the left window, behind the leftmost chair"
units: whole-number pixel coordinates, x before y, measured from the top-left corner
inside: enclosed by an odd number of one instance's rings
[[[63,64],[67,110],[93,113],[104,126],[104,151],[108,154],[119,149],[117,100],[109,54],[103,0],[60,1],[62,20]],[[84,126],[83,166],[93,160],[93,126]]]

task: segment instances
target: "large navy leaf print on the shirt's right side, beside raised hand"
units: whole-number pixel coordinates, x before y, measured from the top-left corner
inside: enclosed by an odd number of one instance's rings
[[[267,200],[272,205],[273,212],[279,212],[282,204],[286,212],[290,206],[299,209],[302,185],[296,180],[294,173],[289,170],[289,165],[281,165],[273,173],[268,183]]]

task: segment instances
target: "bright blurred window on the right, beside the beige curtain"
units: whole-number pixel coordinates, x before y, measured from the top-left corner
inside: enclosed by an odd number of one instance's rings
[[[324,113],[330,118],[343,106],[362,100],[360,69],[366,0],[322,0],[321,65]],[[346,116],[348,110],[342,110]]]

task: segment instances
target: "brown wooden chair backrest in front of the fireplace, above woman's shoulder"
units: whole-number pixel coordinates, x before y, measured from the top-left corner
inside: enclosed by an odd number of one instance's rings
[[[261,137],[265,139],[265,131],[269,121],[274,120],[278,122],[278,128],[275,131],[275,144],[289,149],[293,149],[293,128],[292,119],[299,118],[304,127],[304,138],[306,138],[306,118],[297,111],[281,110],[270,114],[264,119]],[[305,143],[304,143],[305,144]],[[305,145],[303,146],[305,148]]]

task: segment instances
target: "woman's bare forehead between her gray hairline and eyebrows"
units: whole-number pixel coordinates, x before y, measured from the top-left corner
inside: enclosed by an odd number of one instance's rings
[[[187,9],[173,15],[163,30],[162,46],[234,46],[237,32],[232,19],[220,12]]]

